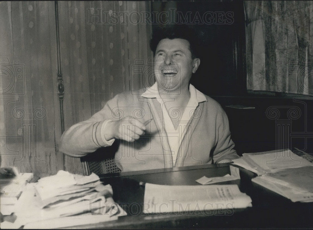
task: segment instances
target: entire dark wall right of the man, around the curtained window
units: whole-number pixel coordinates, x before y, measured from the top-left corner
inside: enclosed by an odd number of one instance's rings
[[[277,93],[273,93],[275,96],[247,93],[243,1],[175,3],[176,12],[180,12],[177,21],[185,20],[196,30],[201,42],[201,64],[191,83],[223,106],[239,155],[293,147],[313,153],[312,98],[295,101]],[[168,11],[166,7],[160,8],[160,12]],[[203,15],[209,16],[203,20]],[[226,107],[238,104],[255,109]]]

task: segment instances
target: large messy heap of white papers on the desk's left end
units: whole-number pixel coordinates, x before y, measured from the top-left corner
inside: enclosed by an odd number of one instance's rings
[[[16,203],[17,219],[9,227],[57,228],[115,220],[126,213],[112,194],[111,186],[103,185],[94,173],[82,176],[60,170],[27,184]]]

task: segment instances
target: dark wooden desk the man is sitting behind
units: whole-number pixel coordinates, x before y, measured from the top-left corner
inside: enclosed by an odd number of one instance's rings
[[[117,221],[77,226],[76,228],[312,228],[313,203],[293,203],[290,200],[251,182],[255,175],[240,168],[241,180],[224,182],[237,184],[252,199],[253,207],[168,214],[142,214],[144,186],[139,182],[162,185],[198,185],[202,176],[223,176],[228,164],[188,166],[172,169],[100,175],[101,181],[113,187],[113,198],[127,212]],[[71,227],[75,228],[75,227]]]

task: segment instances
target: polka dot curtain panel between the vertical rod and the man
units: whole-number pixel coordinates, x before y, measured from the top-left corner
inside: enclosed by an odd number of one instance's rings
[[[151,24],[141,23],[141,12],[150,12],[149,2],[59,2],[65,129],[116,94],[141,87],[132,65],[152,56]],[[65,159],[66,168],[76,164]]]

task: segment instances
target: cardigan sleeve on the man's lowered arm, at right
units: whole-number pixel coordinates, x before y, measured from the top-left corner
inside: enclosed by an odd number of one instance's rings
[[[234,149],[235,144],[230,138],[228,117],[221,107],[220,109],[220,114],[216,118],[217,144],[213,152],[213,163],[225,163],[239,158]]]

